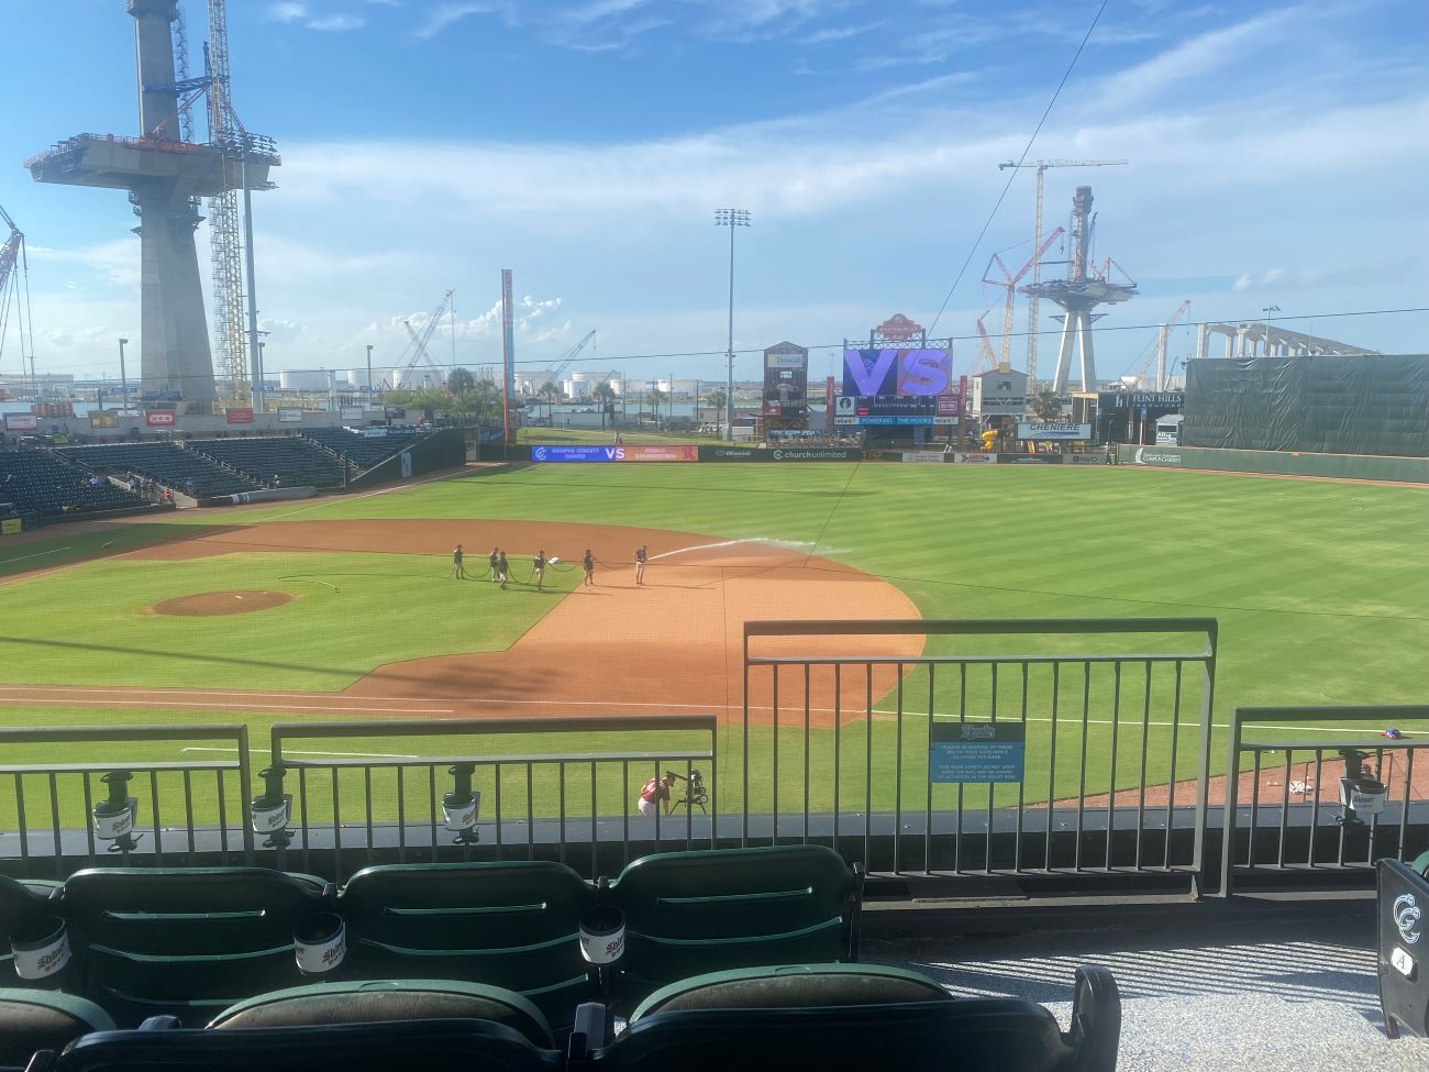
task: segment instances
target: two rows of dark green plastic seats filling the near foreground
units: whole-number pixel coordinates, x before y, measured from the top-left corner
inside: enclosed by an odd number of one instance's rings
[[[0,1066],[50,1051],[29,1069],[1115,1069],[1120,1002],[1102,969],[1077,971],[1062,1032],[1033,1002],[787,959],[855,956],[860,895],[819,846],[657,853],[593,885],[559,863],[379,866],[342,890],[260,868],[0,879],[0,929],[57,916],[73,952],[43,981],[60,992],[0,979]],[[646,968],[632,991],[617,972],[612,995],[572,956],[597,902],[627,912],[647,958],[669,958],[669,983],[650,993]],[[292,933],[314,910],[346,922],[350,952],[294,986]],[[617,1012],[629,1023],[613,1035]]]

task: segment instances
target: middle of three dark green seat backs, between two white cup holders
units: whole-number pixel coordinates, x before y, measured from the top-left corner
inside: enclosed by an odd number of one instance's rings
[[[367,868],[337,898],[357,975],[504,986],[560,1023],[586,996],[577,925],[593,902],[574,870],[544,860]]]

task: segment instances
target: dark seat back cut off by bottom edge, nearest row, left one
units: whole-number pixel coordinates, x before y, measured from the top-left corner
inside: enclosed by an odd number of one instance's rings
[[[87,1035],[43,1072],[560,1072],[553,1049],[484,1021],[111,1031]],[[41,1072],[33,1069],[31,1072]]]

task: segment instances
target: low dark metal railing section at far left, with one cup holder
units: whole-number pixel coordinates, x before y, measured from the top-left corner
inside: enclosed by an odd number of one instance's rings
[[[197,750],[231,758],[184,758],[196,742],[217,742]],[[179,758],[154,758],[154,743]],[[146,748],[123,755],[126,745]],[[54,746],[64,746],[64,762],[51,759]],[[21,762],[26,749],[34,756]],[[9,760],[0,765],[0,859],[26,878],[63,879],[106,859],[253,862],[244,725],[0,729],[0,756]],[[96,816],[106,806],[107,828]]]

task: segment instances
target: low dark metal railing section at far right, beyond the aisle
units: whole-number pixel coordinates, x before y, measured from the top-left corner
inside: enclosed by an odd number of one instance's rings
[[[1236,708],[1223,785],[1220,895],[1252,878],[1363,878],[1379,858],[1410,855],[1410,823],[1422,829],[1429,822],[1429,755],[1418,760],[1425,785],[1415,799],[1416,755],[1429,740],[1403,738],[1400,729],[1425,720],[1429,706]],[[1379,732],[1356,732],[1363,726]],[[1256,730],[1275,736],[1246,740]]]

